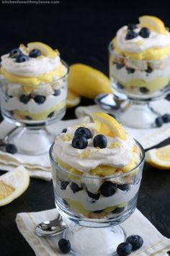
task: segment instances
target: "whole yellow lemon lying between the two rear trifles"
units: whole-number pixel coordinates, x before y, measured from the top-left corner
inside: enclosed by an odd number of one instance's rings
[[[73,64],[68,75],[68,89],[94,99],[99,93],[112,93],[109,78],[97,69],[85,64]]]

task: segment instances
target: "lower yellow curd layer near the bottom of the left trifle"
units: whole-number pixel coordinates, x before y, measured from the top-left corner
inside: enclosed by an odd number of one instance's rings
[[[66,101],[62,101],[60,104],[56,105],[56,106],[53,106],[53,108],[49,108],[48,110],[46,111],[42,111],[40,113],[30,113],[29,111],[27,110],[24,110],[24,111],[18,111],[18,110],[15,110],[14,111],[14,116],[17,118],[17,119],[24,119],[24,116],[30,116],[32,118],[32,120],[44,120],[44,119],[47,119],[48,115],[53,112],[53,111],[60,111],[61,108],[65,107],[66,106]]]

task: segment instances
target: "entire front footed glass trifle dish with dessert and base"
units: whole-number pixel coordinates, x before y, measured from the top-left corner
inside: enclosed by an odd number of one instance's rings
[[[93,120],[64,129],[50,148],[55,205],[73,255],[114,255],[126,236],[118,224],[137,204],[144,151],[112,116]]]

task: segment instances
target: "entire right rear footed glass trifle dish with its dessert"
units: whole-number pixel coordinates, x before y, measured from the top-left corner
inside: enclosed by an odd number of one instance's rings
[[[149,103],[170,90],[170,33],[164,22],[143,16],[139,24],[121,27],[109,43],[109,77],[113,92],[128,97],[117,119],[129,127],[154,127],[159,114]]]

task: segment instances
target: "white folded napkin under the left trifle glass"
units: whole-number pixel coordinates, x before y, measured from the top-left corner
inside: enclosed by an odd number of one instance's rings
[[[76,124],[77,119],[68,121],[58,121],[56,124],[48,126],[48,131],[57,135],[61,130],[70,125]],[[14,128],[13,124],[2,121],[0,124],[0,137],[3,138]],[[25,141],[27,143],[27,141]],[[0,170],[12,171],[19,165],[23,165],[30,172],[30,176],[38,179],[51,179],[50,159],[48,152],[43,155],[14,155],[0,151]]]

